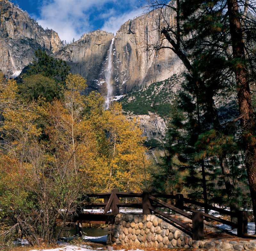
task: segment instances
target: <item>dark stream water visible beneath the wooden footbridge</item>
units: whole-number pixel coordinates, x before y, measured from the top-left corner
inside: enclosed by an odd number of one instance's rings
[[[56,234],[60,231],[60,226],[56,227]],[[82,233],[83,235],[86,236],[103,236],[108,234],[108,230],[107,229],[101,229],[101,228],[95,228],[95,227],[83,227],[82,228]],[[76,234],[76,228],[75,226],[66,226],[62,229],[61,233],[60,233],[60,238],[61,237],[70,237]]]

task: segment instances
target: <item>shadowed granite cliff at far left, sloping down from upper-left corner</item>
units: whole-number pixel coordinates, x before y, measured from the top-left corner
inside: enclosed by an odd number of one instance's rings
[[[36,49],[53,53],[62,47],[58,34],[53,30],[44,30],[27,12],[8,1],[3,2],[1,7],[0,69],[7,76],[18,75],[31,63]]]

